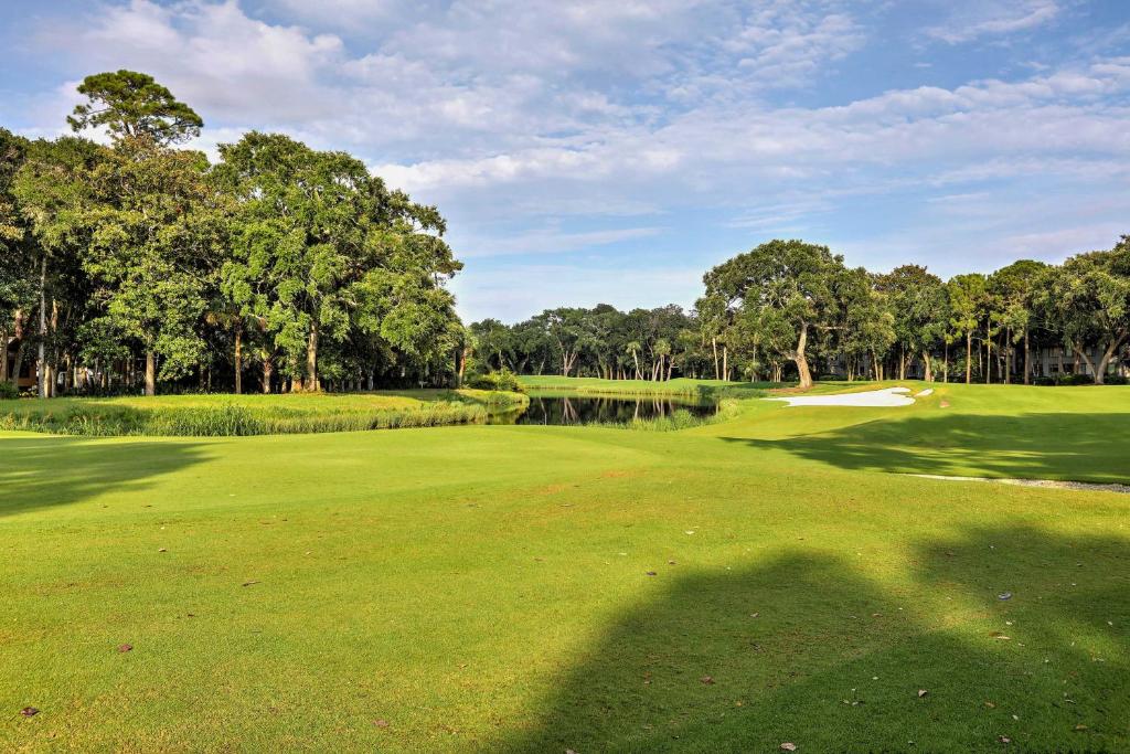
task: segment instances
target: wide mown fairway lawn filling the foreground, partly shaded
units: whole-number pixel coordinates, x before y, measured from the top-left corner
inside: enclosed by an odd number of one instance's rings
[[[890,473],[1127,480],[1130,389],[935,387],[0,435],[0,749],[1130,749],[1130,496]]]

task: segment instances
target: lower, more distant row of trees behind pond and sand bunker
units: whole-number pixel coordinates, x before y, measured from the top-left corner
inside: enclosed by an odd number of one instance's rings
[[[490,367],[518,372],[771,381],[788,373],[801,387],[811,385],[814,365],[847,379],[1028,383],[1038,348],[1057,349],[1060,373],[1102,383],[1130,343],[1130,236],[1059,266],[1020,260],[949,280],[916,265],[873,274],[827,246],[776,240],[703,281],[690,313],[555,309],[510,327],[477,322],[471,343]]]

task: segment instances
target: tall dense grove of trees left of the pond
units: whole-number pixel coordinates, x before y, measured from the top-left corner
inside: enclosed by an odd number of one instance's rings
[[[181,148],[200,116],[144,73],[79,93],[72,129],[106,144],[0,129],[0,382],[26,364],[44,397],[451,379],[462,266],[435,207],[279,133],[209,164]]]

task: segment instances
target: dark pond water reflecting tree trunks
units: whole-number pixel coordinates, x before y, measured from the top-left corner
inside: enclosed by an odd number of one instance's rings
[[[652,419],[677,410],[694,416],[713,416],[718,407],[694,398],[669,396],[577,396],[559,392],[531,392],[524,411],[495,416],[492,424],[591,424],[626,423],[634,418]]]

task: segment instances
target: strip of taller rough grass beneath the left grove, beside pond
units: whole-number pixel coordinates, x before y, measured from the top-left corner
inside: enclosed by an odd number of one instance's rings
[[[528,399],[486,390],[194,395],[0,401],[0,430],[81,436],[241,436],[484,422]]]

